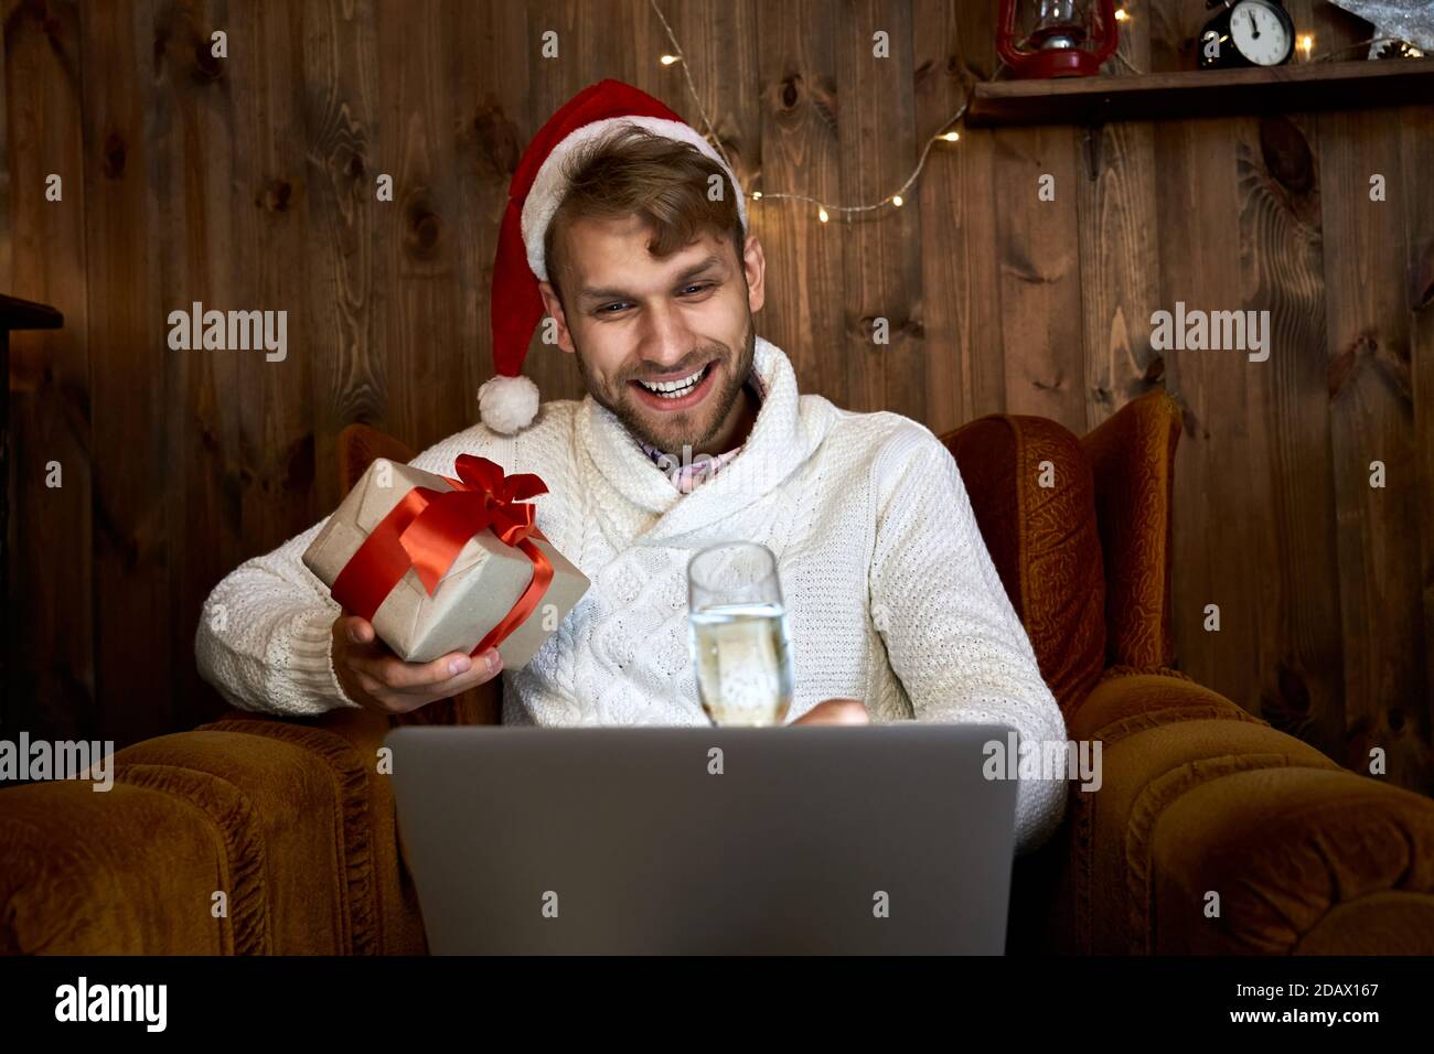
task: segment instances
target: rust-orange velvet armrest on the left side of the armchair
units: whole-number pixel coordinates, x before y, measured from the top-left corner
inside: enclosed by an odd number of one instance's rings
[[[0,792],[0,952],[423,952],[376,771],[387,730],[234,711],[118,751],[109,792]]]

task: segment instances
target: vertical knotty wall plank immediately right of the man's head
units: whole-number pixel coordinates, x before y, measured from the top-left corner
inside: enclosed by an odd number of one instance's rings
[[[826,4],[757,9],[763,123],[753,228],[767,257],[763,334],[786,350],[804,391],[850,406],[842,288],[846,239],[816,205],[774,194],[840,201],[837,29]],[[840,348],[840,351],[837,350]]]

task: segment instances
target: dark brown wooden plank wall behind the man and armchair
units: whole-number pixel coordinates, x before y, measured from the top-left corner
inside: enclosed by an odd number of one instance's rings
[[[995,0],[663,6],[749,188],[880,198],[997,72]],[[1126,7],[1110,73],[1190,65],[1200,0]],[[1368,29],[1291,7],[1316,50]],[[697,113],[645,0],[6,0],[3,32],[0,290],[66,315],[16,340],[4,717],[125,743],[217,713],[199,604],[336,503],[346,423],[422,446],[475,419],[506,184],[542,120],[601,77]],[[1431,171],[1428,105],[968,129],[899,211],[756,204],[760,326],[806,389],[936,432],[1005,410],[1083,433],[1163,384],[1186,410],[1180,667],[1349,764],[1384,746],[1391,779],[1434,792]],[[1268,308],[1269,361],[1153,351],[1177,300]],[[287,310],[287,360],[171,351],[192,301]],[[529,361],[548,397],[581,394],[565,356]]]

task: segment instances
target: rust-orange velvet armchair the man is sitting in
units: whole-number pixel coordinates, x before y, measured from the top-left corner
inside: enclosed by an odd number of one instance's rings
[[[1010,951],[1434,954],[1434,802],[1170,668],[1179,432],[1152,393],[1084,439],[1021,416],[942,436],[1070,737],[1103,744],[1100,789],[1071,784],[1017,862]],[[347,429],[344,485],[380,455],[412,452]],[[120,750],[108,793],[0,792],[0,952],[426,951],[376,751],[390,721],[498,721],[498,690],[404,718],[231,711]]]

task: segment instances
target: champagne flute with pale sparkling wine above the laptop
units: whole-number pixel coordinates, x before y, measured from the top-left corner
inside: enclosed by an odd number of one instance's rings
[[[688,641],[703,710],[716,726],[770,726],[792,706],[792,647],[777,558],[721,542],[687,564]]]

